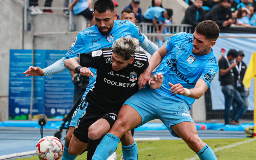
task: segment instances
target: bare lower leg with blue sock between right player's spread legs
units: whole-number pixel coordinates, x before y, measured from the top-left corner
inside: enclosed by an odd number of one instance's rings
[[[139,152],[136,141],[132,137],[131,131],[126,132],[121,138],[124,159],[137,160]],[[131,144],[131,145],[130,145]]]

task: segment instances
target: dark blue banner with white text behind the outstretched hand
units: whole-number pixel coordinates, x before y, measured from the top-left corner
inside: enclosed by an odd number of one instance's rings
[[[67,51],[34,50],[34,66],[45,68]],[[31,76],[22,73],[31,66],[31,50],[10,50],[9,119],[25,120],[30,113]],[[67,115],[71,109],[74,85],[68,70],[51,76],[34,77],[33,117]]]

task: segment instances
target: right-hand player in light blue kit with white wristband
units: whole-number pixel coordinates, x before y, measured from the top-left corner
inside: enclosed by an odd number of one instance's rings
[[[105,160],[125,132],[153,119],[160,119],[171,134],[182,138],[201,160],[217,159],[212,149],[198,137],[188,110],[210,87],[219,70],[211,49],[219,33],[218,25],[206,20],[196,26],[193,35],[181,32],[170,37],[153,54],[148,68],[139,77],[140,88],[146,85],[145,88],[124,102],[117,121],[101,140],[92,160]],[[156,90],[148,87],[154,68],[153,75],[164,76],[161,87]],[[135,141],[126,147],[134,145]]]

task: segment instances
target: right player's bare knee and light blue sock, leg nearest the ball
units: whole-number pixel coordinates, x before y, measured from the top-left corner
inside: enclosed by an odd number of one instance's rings
[[[135,128],[141,123],[140,114],[131,106],[123,105],[118,113],[118,118],[112,129],[107,133],[98,145],[92,160],[105,160],[115,150],[124,133]],[[132,143],[128,144],[132,145]]]

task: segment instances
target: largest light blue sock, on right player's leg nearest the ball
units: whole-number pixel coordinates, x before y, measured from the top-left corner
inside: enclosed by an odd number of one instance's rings
[[[107,133],[96,148],[92,160],[106,160],[115,152],[120,139],[113,134]]]

